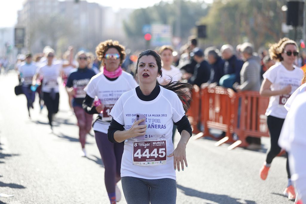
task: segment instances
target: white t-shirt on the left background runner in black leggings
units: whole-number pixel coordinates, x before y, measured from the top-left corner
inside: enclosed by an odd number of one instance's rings
[[[55,93],[58,93],[58,77],[60,76],[60,71],[62,69],[62,64],[52,64],[44,65],[38,69],[39,75],[43,76],[42,91],[51,93],[54,89]]]

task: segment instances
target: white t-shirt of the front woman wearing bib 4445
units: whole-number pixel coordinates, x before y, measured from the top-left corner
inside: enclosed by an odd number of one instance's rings
[[[154,100],[142,101],[133,89],[119,98],[110,115],[128,130],[137,113],[146,115],[147,131],[144,139],[135,137],[125,140],[121,177],[175,180],[174,158],[167,155],[174,151],[173,122],[178,122],[185,115],[181,100],[173,91],[160,87],[160,93]]]

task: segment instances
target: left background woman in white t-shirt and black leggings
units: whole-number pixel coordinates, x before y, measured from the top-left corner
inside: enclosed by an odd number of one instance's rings
[[[43,77],[43,84],[41,90],[43,91],[43,101],[48,109],[48,119],[53,131],[53,117],[54,114],[58,112],[59,105],[59,87],[58,87],[58,77],[60,76],[61,64],[55,64],[53,61],[54,50],[49,49],[46,52],[47,64],[42,65],[36,74],[36,79],[40,76]]]

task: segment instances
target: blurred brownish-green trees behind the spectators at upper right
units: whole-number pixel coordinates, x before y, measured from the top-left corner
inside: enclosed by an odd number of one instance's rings
[[[286,0],[215,0],[201,23],[207,24],[207,42],[237,45],[245,41],[255,48],[281,37]]]

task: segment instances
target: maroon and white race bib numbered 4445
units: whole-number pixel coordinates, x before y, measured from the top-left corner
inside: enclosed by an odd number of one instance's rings
[[[156,166],[166,164],[166,140],[142,141],[133,143],[133,164]]]

